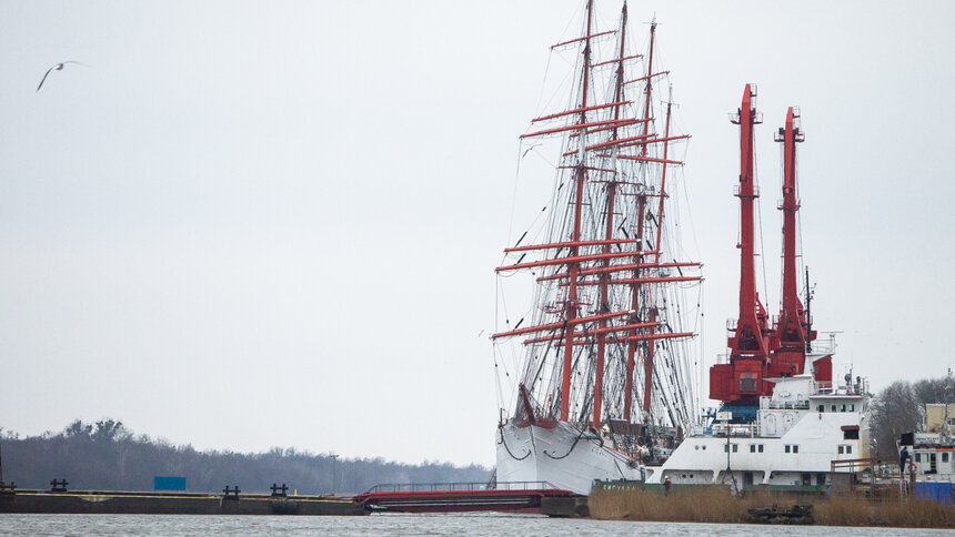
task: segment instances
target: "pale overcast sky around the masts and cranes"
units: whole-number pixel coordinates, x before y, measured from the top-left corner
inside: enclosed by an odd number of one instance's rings
[[[620,2],[597,4],[615,24]],[[0,426],[112,416],[199,448],[492,464],[478,334],[514,239],[517,135],[581,6],[0,2]],[[630,8],[663,22],[693,134],[707,361],[738,285],[726,113],[755,82],[768,310],[772,133],[795,104],[813,313],[843,331],[836,371],[852,361],[877,389],[955,365],[955,4]],[[90,67],[36,92],[63,60]]]

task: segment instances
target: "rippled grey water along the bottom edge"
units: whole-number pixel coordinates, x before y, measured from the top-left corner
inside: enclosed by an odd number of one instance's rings
[[[366,517],[265,517],[172,515],[0,515],[2,535],[591,535],[703,536],[909,536],[946,530],[663,524],[573,520],[532,515],[372,515]]]

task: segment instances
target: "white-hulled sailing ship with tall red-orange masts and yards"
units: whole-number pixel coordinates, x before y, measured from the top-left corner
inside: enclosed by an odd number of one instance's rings
[[[496,268],[497,482],[642,480],[697,419],[701,263],[678,233],[690,135],[656,22],[634,39],[627,19],[624,3],[599,29],[586,2],[580,33],[552,47],[572,67],[563,104],[521,136],[522,166],[544,162],[531,174],[553,188]]]

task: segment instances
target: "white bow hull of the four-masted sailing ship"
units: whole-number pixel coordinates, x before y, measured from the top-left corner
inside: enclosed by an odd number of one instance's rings
[[[553,427],[509,422],[497,433],[497,482],[546,482],[590,494],[594,479],[642,480],[641,465],[567,423]]]

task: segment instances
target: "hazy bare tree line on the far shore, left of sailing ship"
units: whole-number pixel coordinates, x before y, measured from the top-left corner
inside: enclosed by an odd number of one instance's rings
[[[151,490],[154,476],[183,476],[190,492],[219,492],[238,485],[244,492],[267,492],[273,483],[289,485],[289,494],[330,494],[330,454],[273,447],[267,453],[195,450],[162,438],[134,435],[122,422],[79,419],[60,433],[21,438],[2,433],[3,478],[20,488],[47,488],[51,479],[67,479],[70,489]],[[360,493],[381,483],[486,482],[491,469],[479,465],[420,465],[382,458],[339,458],[335,492]]]

